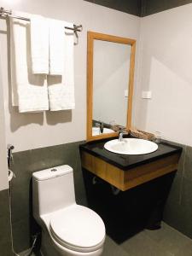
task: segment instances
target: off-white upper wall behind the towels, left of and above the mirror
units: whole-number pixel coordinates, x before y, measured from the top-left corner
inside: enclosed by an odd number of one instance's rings
[[[84,26],[84,31],[79,33],[79,45],[75,46],[75,110],[21,114],[10,106],[7,26],[5,21],[0,21],[0,40],[3,45],[0,58],[3,62],[7,141],[15,145],[15,151],[20,151],[84,140],[86,138],[87,31],[137,39],[140,18],[83,0],[0,0],[0,6],[69,20]]]

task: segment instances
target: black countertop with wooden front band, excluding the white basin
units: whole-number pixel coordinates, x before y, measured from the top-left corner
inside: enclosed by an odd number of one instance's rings
[[[151,154],[113,154],[103,147],[104,143],[80,146],[82,166],[121,191],[177,171],[182,152],[182,148],[160,143],[157,151]]]

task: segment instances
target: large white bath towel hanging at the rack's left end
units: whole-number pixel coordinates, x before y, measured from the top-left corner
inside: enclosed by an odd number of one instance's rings
[[[46,76],[32,74],[30,24],[10,19],[10,32],[12,104],[20,113],[48,110]]]

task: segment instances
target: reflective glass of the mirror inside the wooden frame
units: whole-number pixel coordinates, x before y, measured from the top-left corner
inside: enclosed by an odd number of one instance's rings
[[[131,45],[94,40],[92,135],[126,126]]]

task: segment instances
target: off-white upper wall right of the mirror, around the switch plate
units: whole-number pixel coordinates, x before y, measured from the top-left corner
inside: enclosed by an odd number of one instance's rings
[[[142,19],[135,124],[192,146],[192,4]],[[141,99],[152,90],[152,99]]]

